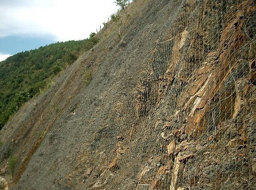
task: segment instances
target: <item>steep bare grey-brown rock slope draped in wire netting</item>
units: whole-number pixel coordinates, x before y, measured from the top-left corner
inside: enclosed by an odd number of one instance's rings
[[[1,130],[13,189],[256,190],[255,0],[136,8]]]

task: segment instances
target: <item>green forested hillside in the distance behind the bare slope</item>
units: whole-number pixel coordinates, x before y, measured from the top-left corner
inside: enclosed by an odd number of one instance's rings
[[[34,95],[51,86],[51,79],[97,43],[90,38],[57,42],[17,53],[0,62],[0,129]]]

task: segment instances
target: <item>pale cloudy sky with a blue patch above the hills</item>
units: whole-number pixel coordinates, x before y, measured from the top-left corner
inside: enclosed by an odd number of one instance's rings
[[[117,9],[114,0],[0,0],[0,61],[57,41],[88,38]]]

